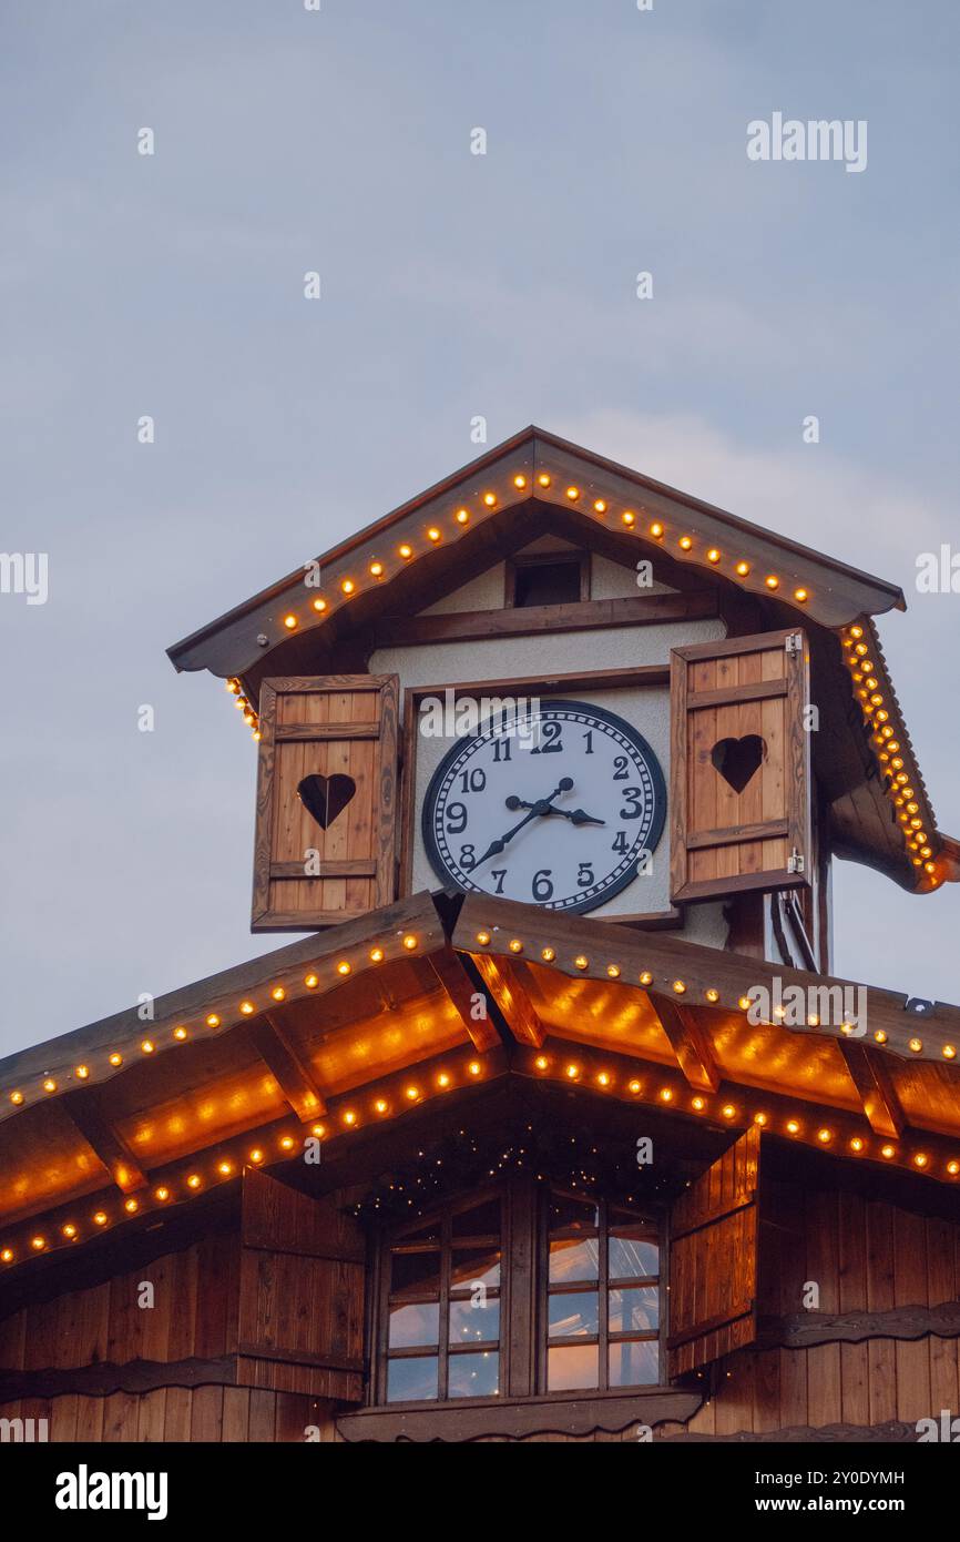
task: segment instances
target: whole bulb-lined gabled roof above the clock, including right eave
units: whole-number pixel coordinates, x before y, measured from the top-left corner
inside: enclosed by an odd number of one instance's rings
[[[754,595],[777,612],[777,625],[803,621],[817,691],[837,702],[841,725],[818,736],[824,743],[817,768],[818,776],[826,768],[831,783],[837,851],[917,893],[960,876],[949,837],[937,831],[872,623],[877,614],[905,609],[903,592],[542,429],[524,429],[174,645],[170,657],[177,669],[227,677],[257,737],[256,702],[267,675],[342,672],[342,652],[334,662],[334,651],[357,643],[365,668],[370,648],[390,641],[398,628],[405,635],[413,612],[547,530],[603,547],[629,566],[638,554],[650,557],[687,588],[700,578],[704,601],[720,584]],[[697,600],[687,595],[687,604]],[[615,604],[636,603],[607,601],[604,625],[613,623]],[[544,631],[561,623],[576,629],[604,620],[606,612],[593,614],[601,608],[569,606],[561,617],[555,606],[539,620]],[[427,632],[433,625],[439,635],[448,620],[421,617],[419,625]],[[527,620],[533,625],[533,612]],[[848,674],[844,657],[852,665],[866,657],[871,668]],[[908,805],[915,806],[908,813]]]

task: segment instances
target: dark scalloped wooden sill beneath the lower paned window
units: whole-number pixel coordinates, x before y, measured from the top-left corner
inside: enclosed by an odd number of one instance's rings
[[[544,1396],[505,1402],[470,1399],[416,1408],[365,1408],[341,1414],[336,1422],[344,1440],[479,1440],[507,1436],[518,1440],[538,1434],[586,1436],[595,1429],[615,1434],[627,1425],[686,1423],[701,1406],[698,1392],[673,1388],[641,1388],[629,1396]]]

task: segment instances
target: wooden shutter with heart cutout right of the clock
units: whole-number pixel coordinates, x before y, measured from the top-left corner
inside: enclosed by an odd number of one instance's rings
[[[807,702],[803,632],[670,654],[675,902],[811,884]]]

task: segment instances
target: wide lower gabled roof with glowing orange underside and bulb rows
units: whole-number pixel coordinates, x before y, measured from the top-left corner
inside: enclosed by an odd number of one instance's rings
[[[770,1010],[754,1022],[758,987]],[[960,1007],[918,1018],[871,987],[868,1033],[848,1038],[781,1021],[790,987],[857,990],[538,905],[416,894],[159,998],[149,1025],[131,1010],[0,1061],[0,1288],[214,1203],[245,1164],[302,1164],[311,1133],[356,1183],[361,1152],[427,1113],[461,1118],[501,1078],[955,1183]]]

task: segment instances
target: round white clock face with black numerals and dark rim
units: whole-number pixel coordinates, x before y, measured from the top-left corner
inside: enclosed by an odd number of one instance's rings
[[[663,773],[635,728],[582,702],[544,702],[450,749],[422,828],[444,884],[584,911],[636,877],[664,814]]]

